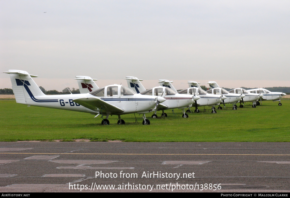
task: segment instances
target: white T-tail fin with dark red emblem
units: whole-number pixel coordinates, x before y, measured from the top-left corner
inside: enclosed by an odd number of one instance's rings
[[[94,81],[97,81],[98,79],[92,79],[89,76],[75,76],[75,80],[77,80],[77,83],[79,85],[79,93],[81,94],[87,94],[91,91],[99,89],[99,87],[96,85]]]

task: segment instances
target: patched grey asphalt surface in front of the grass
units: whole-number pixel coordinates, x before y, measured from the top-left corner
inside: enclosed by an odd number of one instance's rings
[[[0,153],[3,193],[290,192],[290,143],[0,142]]]

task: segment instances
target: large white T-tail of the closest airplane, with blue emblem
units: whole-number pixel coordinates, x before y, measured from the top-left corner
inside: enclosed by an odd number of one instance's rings
[[[35,96],[45,96],[45,94],[39,89],[37,84],[31,78],[37,76],[29,75],[26,71],[21,70],[8,70],[8,72],[4,73],[10,74],[16,102],[27,104],[26,100],[28,98],[35,100]]]

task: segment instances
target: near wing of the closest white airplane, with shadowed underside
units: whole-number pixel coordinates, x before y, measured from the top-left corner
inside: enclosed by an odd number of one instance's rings
[[[78,99],[73,100],[73,102],[76,102],[97,113],[122,113],[124,112],[123,109],[120,109],[119,107],[116,107],[115,105],[110,104],[96,97],[78,98]]]

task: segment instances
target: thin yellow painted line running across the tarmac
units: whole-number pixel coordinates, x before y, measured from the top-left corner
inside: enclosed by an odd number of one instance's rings
[[[0,153],[0,154],[70,154],[70,155],[261,155],[261,156],[290,156],[290,154],[138,154],[138,153]]]

